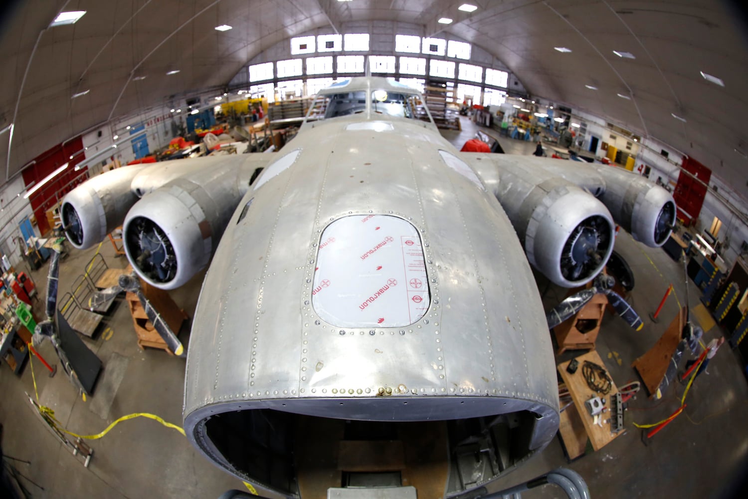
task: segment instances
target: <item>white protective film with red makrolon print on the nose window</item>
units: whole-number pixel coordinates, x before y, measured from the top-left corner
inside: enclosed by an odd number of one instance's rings
[[[340,218],[322,232],[312,304],[336,327],[401,327],[430,303],[418,230],[389,215]]]

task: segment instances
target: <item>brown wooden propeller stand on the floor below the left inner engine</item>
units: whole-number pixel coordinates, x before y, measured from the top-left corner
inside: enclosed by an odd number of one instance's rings
[[[163,317],[171,331],[174,334],[179,334],[182,323],[188,319],[187,314],[171,299],[171,296],[164,290],[159,290],[156,287],[149,286],[148,284],[141,281],[141,289],[146,298],[153,304],[155,308]],[[141,350],[144,350],[146,346],[151,348],[163,349],[169,355],[174,355],[174,352],[166,345],[166,342],[162,340],[161,335],[156,328],[153,328],[153,324],[148,319],[147,314],[141,305],[138,296],[135,293],[127,293],[126,295],[127,304],[132,314],[132,323],[135,327],[135,334],[138,335],[138,346]]]

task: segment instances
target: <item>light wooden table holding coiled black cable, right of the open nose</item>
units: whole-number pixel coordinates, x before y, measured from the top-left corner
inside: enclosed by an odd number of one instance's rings
[[[592,444],[592,449],[600,450],[602,447],[610,444],[614,438],[623,434],[623,431],[612,433],[610,431],[610,423],[607,423],[607,420],[612,417],[610,399],[618,393],[616,384],[611,381],[610,392],[600,395],[587,386],[587,382],[582,374],[584,361],[590,361],[598,364],[598,366],[605,367],[600,355],[598,355],[597,351],[592,350],[577,357],[577,361],[579,362],[579,367],[574,374],[569,374],[566,371],[568,362],[562,362],[557,367],[572,400],[571,405],[561,413],[559,425],[561,441],[566,447],[569,459],[575,459],[585,453],[588,441],[589,444]],[[608,373],[608,376],[610,376],[610,373]],[[593,417],[589,415],[589,411],[587,411],[584,405],[585,400],[589,400],[595,396],[604,398],[604,405],[608,408],[607,411],[600,414],[603,419],[602,427],[593,422]]]

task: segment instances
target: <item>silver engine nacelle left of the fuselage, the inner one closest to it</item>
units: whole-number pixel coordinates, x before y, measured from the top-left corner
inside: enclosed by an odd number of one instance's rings
[[[235,178],[212,173],[172,180],[144,195],[127,213],[127,259],[149,284],[164,290],[180,287],[215,253],[241,192]]]

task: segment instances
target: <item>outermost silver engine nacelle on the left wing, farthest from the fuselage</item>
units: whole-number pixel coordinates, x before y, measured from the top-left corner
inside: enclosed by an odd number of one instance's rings
[[[70,244],[91,248],[120,225],[138,197],[130,183],[146,165],[116,168],[91,178],[62,200],[61,216]]]

